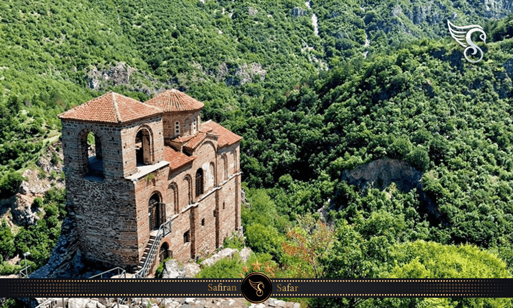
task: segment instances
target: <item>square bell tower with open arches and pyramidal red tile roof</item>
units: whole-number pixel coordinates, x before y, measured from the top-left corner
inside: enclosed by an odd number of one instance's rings
[[[114,92],[62,114],[67,202],[78,247],[90,260],[131,267],[139,262],[137,207],[130,178],[163,161],[162,110]],[[94,134],[94,153],[87,137]]]

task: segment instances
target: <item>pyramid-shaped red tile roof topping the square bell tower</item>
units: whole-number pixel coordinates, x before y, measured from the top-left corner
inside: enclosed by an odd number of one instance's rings
[[[160,114],[162,110],[124,95],[108,92],[58,115],[60,119],[100,123],[126,123]]]

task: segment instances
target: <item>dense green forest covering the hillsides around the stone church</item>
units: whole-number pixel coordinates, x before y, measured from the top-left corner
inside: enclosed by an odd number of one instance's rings
[[[513,17],[501,5],[11,0],[0,12],[2,198],[60,133],[58,113],[108,90],[144,101],[177,88],[205,103],[203,119],[243,136],[245,240],[225,246],[251,247],[278,277],[513,277]],[[464,59],[448,19],[483,26],[483,61]],[[420,183],[344,177],[379,159],[407,162]],[[0,275],[16,273],[7,260],[27,250],[34,267],[46,262],[64,196],[52,189],[36,199],[44,217],[34,225],[0,221]],[[238,278],[242,266],[223,260],[199,277]]]

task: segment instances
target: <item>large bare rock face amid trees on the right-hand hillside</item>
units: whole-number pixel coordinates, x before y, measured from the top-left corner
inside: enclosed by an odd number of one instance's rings
[[[394,182],[398,189],[409,191],[417,187],[421,177],[422,172],[407,162],[389,158],[375,160],[342,172],[342,180],[357,185],[360,189],[369,186],[384,189]]]

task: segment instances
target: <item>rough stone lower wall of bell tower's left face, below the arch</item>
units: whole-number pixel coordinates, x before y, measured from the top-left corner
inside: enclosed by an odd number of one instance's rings
[[[76,213],[79,247],[90,260],[113,266],[135,265],[137,220],[129,180],[96,182],[66,176],[67,199]]]

